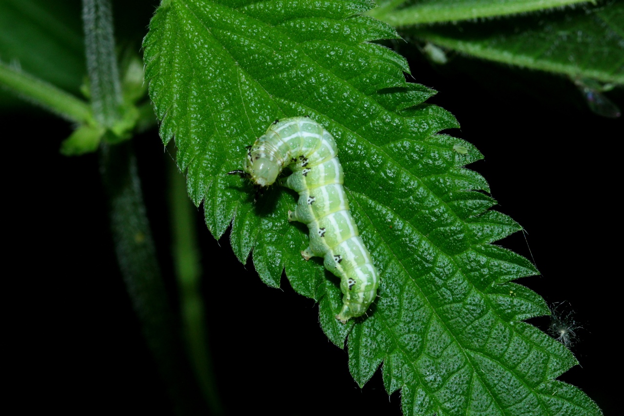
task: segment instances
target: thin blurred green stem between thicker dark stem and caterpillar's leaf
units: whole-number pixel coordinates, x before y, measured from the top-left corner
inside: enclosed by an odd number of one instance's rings
[[[197,243],[195,214],[197,208],[188,198],[186,183],[173,163],[169,165],[169,198],[173,234],[173,262],[180,289],[183,331],[188,356],[195,370],[204,399],[213,414],[222,414],[212,359],[208,346],[205,308],[201,292],[202,266]]]

